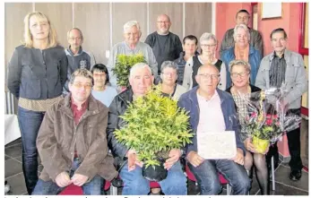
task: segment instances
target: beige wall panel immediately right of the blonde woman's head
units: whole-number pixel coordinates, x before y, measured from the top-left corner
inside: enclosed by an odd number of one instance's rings
[[[67,31],[73,27],[73,4],[36,3],[35,9],[48,15],[56,28],[58,41],[63,47],[67,47]]]

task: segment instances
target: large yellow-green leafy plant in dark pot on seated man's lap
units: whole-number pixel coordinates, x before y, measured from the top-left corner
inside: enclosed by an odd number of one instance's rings
[[[186,110],[178,108],[176,100],[163,97],[160,90],[159,84],[135,99],[120,116],[125,127],[114,132],[118,142],[137,152],[143,161],[143,176],[151,181],[166,177],[163,163],[168,151],[186,146],[193,136]]]

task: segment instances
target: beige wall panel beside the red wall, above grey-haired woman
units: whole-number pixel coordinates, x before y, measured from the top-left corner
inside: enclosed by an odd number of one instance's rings
[[[200,39],[204,32],[212,32],[212,3],[186,3],[185,13],[185,36]]]

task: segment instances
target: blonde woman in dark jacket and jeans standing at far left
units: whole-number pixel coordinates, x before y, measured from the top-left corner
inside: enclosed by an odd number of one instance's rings
[[[40,12],[24,19],[24,43],[16,47],[8,64],[8,89],[18,99],[22,133],[22,171],[28,194],[38,181],[36,139],[43,116],[62,98],[66,81],[65,49],[58,45],[56,30]]]

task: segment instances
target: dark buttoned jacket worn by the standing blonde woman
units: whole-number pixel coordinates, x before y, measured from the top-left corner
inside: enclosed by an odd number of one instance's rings
[[[7,87],[18,99],[54,99],[67,79],[64,47],[16,47],[8,64]]]

